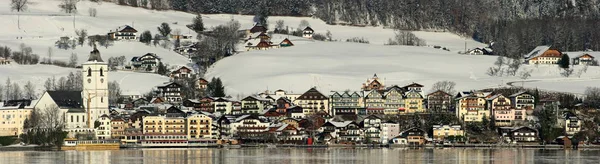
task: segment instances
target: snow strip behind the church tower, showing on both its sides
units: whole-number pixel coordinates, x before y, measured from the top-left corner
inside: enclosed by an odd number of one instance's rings
[[[36,91],[41,95],[44,90],[44,82],[52,76],[56,80],[60,77],[66,77],[70,72],[80,73],[79,69],[63,68],[52,65],[2,65],[0,66],[0,84],[4,85],[7,78],[12,83],[25,85],[31,81],[36,85]],[[123,91],[138,91],[146,93],[153,87],[169,81],[168,77],[150,73],[135,73],[129,71],[109,72],[108,81],[116,81],[120,84]]]

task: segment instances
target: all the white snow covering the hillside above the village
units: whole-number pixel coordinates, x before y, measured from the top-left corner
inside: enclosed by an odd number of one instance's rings
[[[138,31],[150,30],[158,33],[157,26],[162,22],[170,24],[173,30],[181,30],[184,34],[196,35],[185,25],[190,24],[193,14],[176,11],[154,11],[143,8],[119,6],[113,3],[78,3],[78,14],[64,14],[57,7],[56,0],[30,0],[28,10],[22,13],[9,9],[10,1],[0,1],[0,46],[9,46],[17,50],[19,44],[25,43],[33,48],[33,52],[46,57],[48,47],[62,36],[75,36],[75,29],[86,29],[90,35],[106,34],[118,26],[132,25]],[[88,9],[96,8],[97,17],[88,16]],[[20,15],[20,16],[17,16]],[[203,15],[205,27],[210,28],[237,20],[242,28],[251,28],[253,16],[231,14]],[[17,21],[20,19],[20,28]],[[75,23],[73,23],[75,20]],[[520,81],[517,77],[490,77],[485,71],[492,65],[493,56],[463,56],[465,43],[467,48],[482,47],[485,44],[466,39],[446,32],[416,31],[414,34],[424,39],[429,47],[383,46],[389,38],[394,37],[394,30],[383,27],[332,26],[309,17],[269,17],[270,29],[275,21],[284,20],[290,29],[298,28],[302,20],[307,20],[316,33],[325,34],[330,31],[334,40],[345,41],[349,38],[366,38],[370,44],[345,42],[308,41],[303,38],[290,37],[296,46],[268,51],[242,52],[233,57],[217,62],[207,78],[221,77],[227,92],[234,95],[248,95],[264,90],[285,89],[295,93],[308,90],[312,86],[319,87],[323,93],[330,90],[359,89],[367,78],[377,73],[387,85],[404,85],[411,82],[422,83],[426,87],[436,81],[451,80],[457,88],[481,89],[487,87],[506,86],[508,82]],[[22,39],[17,39],[21,38]],[[273,42],[278,43],[285,35],[275,35]],[[243,46],[243,45],[242,45]],[[431,46],[447,47],[451,51],[434,49]],[[139,42],[115,42],[114,46],[99,48],[102,57],[133,56],[146,53],[158,54],[169,65],[188,63],[173,51],[160,47],[146,46]],[[87,59],[91,47],[85,45],[75,50],[59,50],[54,48],[53,59],[68,60],[71,53],[78,54],[79,62]],[[573,57],[573,56],[572,56]],[[581,77],[563,78],[556,66],[524,66],[534,70],[527,83],[513,83],[526,87],[582,93],[587,86],[598,86],[600,69],[590,67]],[[580,68],[576,68],[575,72]],[[18,82],[32,81],[42,88],[43,81],[51,76],[66,76],[70,68],[46,65],[19,66],[0,65],[0,82],[10,77]],[[118,81],[124,91],[144,93],[153,86],[167,81],[167,77],[155,74],[133,72],[111,72],[110,81]],[[426,88],[428,90],[428,88]]]

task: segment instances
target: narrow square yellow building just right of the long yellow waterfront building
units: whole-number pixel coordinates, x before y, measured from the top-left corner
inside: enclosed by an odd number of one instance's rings
[[[212,118],[203,114],[193,114],[187,117],[187,138],[212,138]]]

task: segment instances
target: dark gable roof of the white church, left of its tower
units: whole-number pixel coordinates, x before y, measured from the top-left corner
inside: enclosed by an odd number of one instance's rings
[[[47,91],[60,108],[83,108],[81,91]]]

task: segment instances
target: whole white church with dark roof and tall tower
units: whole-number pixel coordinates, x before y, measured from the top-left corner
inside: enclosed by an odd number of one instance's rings
[[[110,137],[110,129],[94,130],[94,122],[108,110],[108,64],[96,47],[82,64],[82,91],[46,91],[34,108],[44,110],[58,107],[68,137],[77,133],[95,133],[99,139]]]

